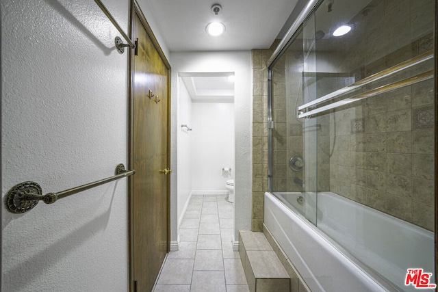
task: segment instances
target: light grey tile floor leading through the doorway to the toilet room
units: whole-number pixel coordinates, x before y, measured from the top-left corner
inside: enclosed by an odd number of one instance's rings
[[[226,198],[192,196],[179,228],[179,250],[169,252],[155,292],[249,291],[232,248],[234,211]]]

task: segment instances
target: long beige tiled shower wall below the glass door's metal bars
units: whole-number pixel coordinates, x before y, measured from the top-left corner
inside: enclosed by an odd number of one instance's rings
[[[331,114],[330,190],[433,230],[433,92],[423,81]]]

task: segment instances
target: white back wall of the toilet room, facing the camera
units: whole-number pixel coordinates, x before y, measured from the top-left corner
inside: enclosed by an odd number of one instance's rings
[[[234,175],[234,104],[192,104],[192,191],[194,194],[226,194]]]

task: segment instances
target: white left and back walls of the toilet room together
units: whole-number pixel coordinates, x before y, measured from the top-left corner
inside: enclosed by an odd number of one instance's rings
[[[234,175],[233,103],[193,102],[181,77],[177,116],[177,218],[181,224],[192,194],[227,194]],[[192,131],[181,129],[187,124]],[[222,168],[232,168],[231,175]]]

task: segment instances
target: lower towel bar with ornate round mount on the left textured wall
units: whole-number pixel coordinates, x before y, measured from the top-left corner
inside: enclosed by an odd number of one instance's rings
[[[110,181],[116,181],[117,179],[123,178],[125,176],[131,176],[135,173],[135,170],[125,170],[125,165],[120,163],[116,166],[116,175],[114,176],[103,178],[100,181],[95,181],[94,183],[81,185],[80,187],[66,189],[65,191],[60,191],[59,193],[49,193],[45,195],[42,195],[42,189],[40,185],[38,185],[38,183],[34,183],[33,181],[26,181],[12,187],[12,189],[8,191],[8,194],[6,194],[4,203],[6,209],[11,213],[25,213],[33,209],[40,200],[42,200],[46,204],[52,204],[58,199],[77,194],[81,191],[86,191],[87,189],[91,189],[92,187],[97,187],[105,183],[110,183]]]

